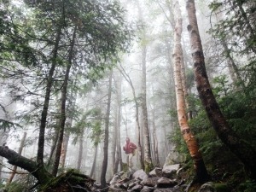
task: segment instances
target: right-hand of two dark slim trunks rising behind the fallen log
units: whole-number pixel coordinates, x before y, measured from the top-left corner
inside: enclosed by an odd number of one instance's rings
[[[54,163],[54,167],[53,167],[53,171],[52,171],[52,174],[54,176],[57,175],[59,164],[60,164],[60,159],[61,159],[61,146],[63,143],[64,128],[65,128],[65,121],[66,121],[67,84],[68,84],[68,79],[69,79],[70,68],[72,66],[73,48],[74,48],[74,43],[75,43],[75,38],[76,38],[76,31],[77,31],[77,26],[74,27],[73,38],[72,38],[72,42],[71,42],[69,53],[68,53],[67,69],[66,69],[66,73],[65,73],[65,77],[64,77],[63,87],[61,90],[60,129],[59,129],[59,137],[58,137],[58,143],[57,143],[57,148],[56,148],[56,153],[55,153],[55,163]]]

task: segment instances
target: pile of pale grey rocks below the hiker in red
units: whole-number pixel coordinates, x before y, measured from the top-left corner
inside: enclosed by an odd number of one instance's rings
[[[180,170],[180,165],[176,164],[163,169],[156,167],[149,174],[143,170],[119,172],[110,181],[108,191],[183,191],[186,187],[183,179],[177,179]]]

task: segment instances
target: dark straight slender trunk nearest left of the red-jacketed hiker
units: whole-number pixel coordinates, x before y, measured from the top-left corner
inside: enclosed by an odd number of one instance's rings
[[[103,146],[103,161],[102,161],[102,174],[101,174],[101,184],[102,188],[105,189],[107,186],[106,183],[106,173],[108,168],[108,134],[109,134],[109,118],[110,118],[110,104],[111,104],[111,92],[112,92],[112,76],[113,71],[111,70],[109,75],[109,83],[108,83],[108,104],[107,104],[107,113],[105,118],[105,139]]]

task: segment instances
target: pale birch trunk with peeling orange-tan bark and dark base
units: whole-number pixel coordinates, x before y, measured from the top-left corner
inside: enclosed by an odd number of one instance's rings
[[[181,35],[182,35],[182,17],[179,4],[176,4],[176,26],[174,32],[174,49],[173,49],[173,70],[174,70],[174,80],[175,80],[175,90],[176,90],[176,102],[177,102],[177,118],[178,123],[183,134],[183,139],[185,140],[189,153],[194,161],[195,168],[195,181],[199,183],[206,182],[209,179],[207,168],[204,164],[204,161],[199,150],[198,143],[196,142],[195,137],[190,131],[188,120],[185,110],[185,99],[183,92],[183,76],[181,72],[182,66],[182,45],[181,45]]]

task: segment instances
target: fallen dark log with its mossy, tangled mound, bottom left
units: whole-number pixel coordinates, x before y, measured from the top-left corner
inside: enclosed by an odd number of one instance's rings
[[[95,182],[94,179],[74,172],[74,170],[54,177],[45,169],[44,165],[38,166],[38,163],[34,160],[23,157],[7,146],[0,146],[0,155],[5,157],[9,164],[19,166],[36,177],[38,184],[40,184],[40,192],[91,191]]]

